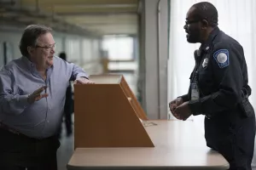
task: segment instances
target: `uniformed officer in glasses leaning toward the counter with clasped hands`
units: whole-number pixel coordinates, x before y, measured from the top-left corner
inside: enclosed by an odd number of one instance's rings
[[[211,3],[189,8],[184,29],[187,41],[201,47],[195,51],[189,94],[174,99],[170,110],[183,121],[205,115],[207,146],[218,150],[230,169],[251,169],[255,116],[243,49],[218,29],[218,11]]]

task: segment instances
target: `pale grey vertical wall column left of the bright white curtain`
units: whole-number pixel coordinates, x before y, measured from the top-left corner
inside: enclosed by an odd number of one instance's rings
[[[150,119],[167,118],[167,11],[167,0],[143,1],[139,90]]]

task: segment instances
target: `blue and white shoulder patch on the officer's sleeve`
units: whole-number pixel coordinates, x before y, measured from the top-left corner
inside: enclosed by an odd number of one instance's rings
[[[213,54],[213,58],[218,63],[219,68],[224,68],[230,65],[230,54],[227,49],[218,49],[218,51]]]

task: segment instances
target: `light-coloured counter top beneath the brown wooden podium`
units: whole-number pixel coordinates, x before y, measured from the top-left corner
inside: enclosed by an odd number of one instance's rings
[[[156,125],[150,125],[154,122]],[[78,148],[68,170],[110,167],[178,167],[228,169],[223,156],[207,147],[192,121],[148,121],[145,126],[153,148]],[[132,125],[131,125],[132,126]]]

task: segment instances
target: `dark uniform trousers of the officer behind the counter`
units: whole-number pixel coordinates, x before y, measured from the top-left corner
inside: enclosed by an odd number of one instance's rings
[[[230,170],[251,170],[255,138],[255,116],[239,112],[205,118],[207,145],[230,163]]]

